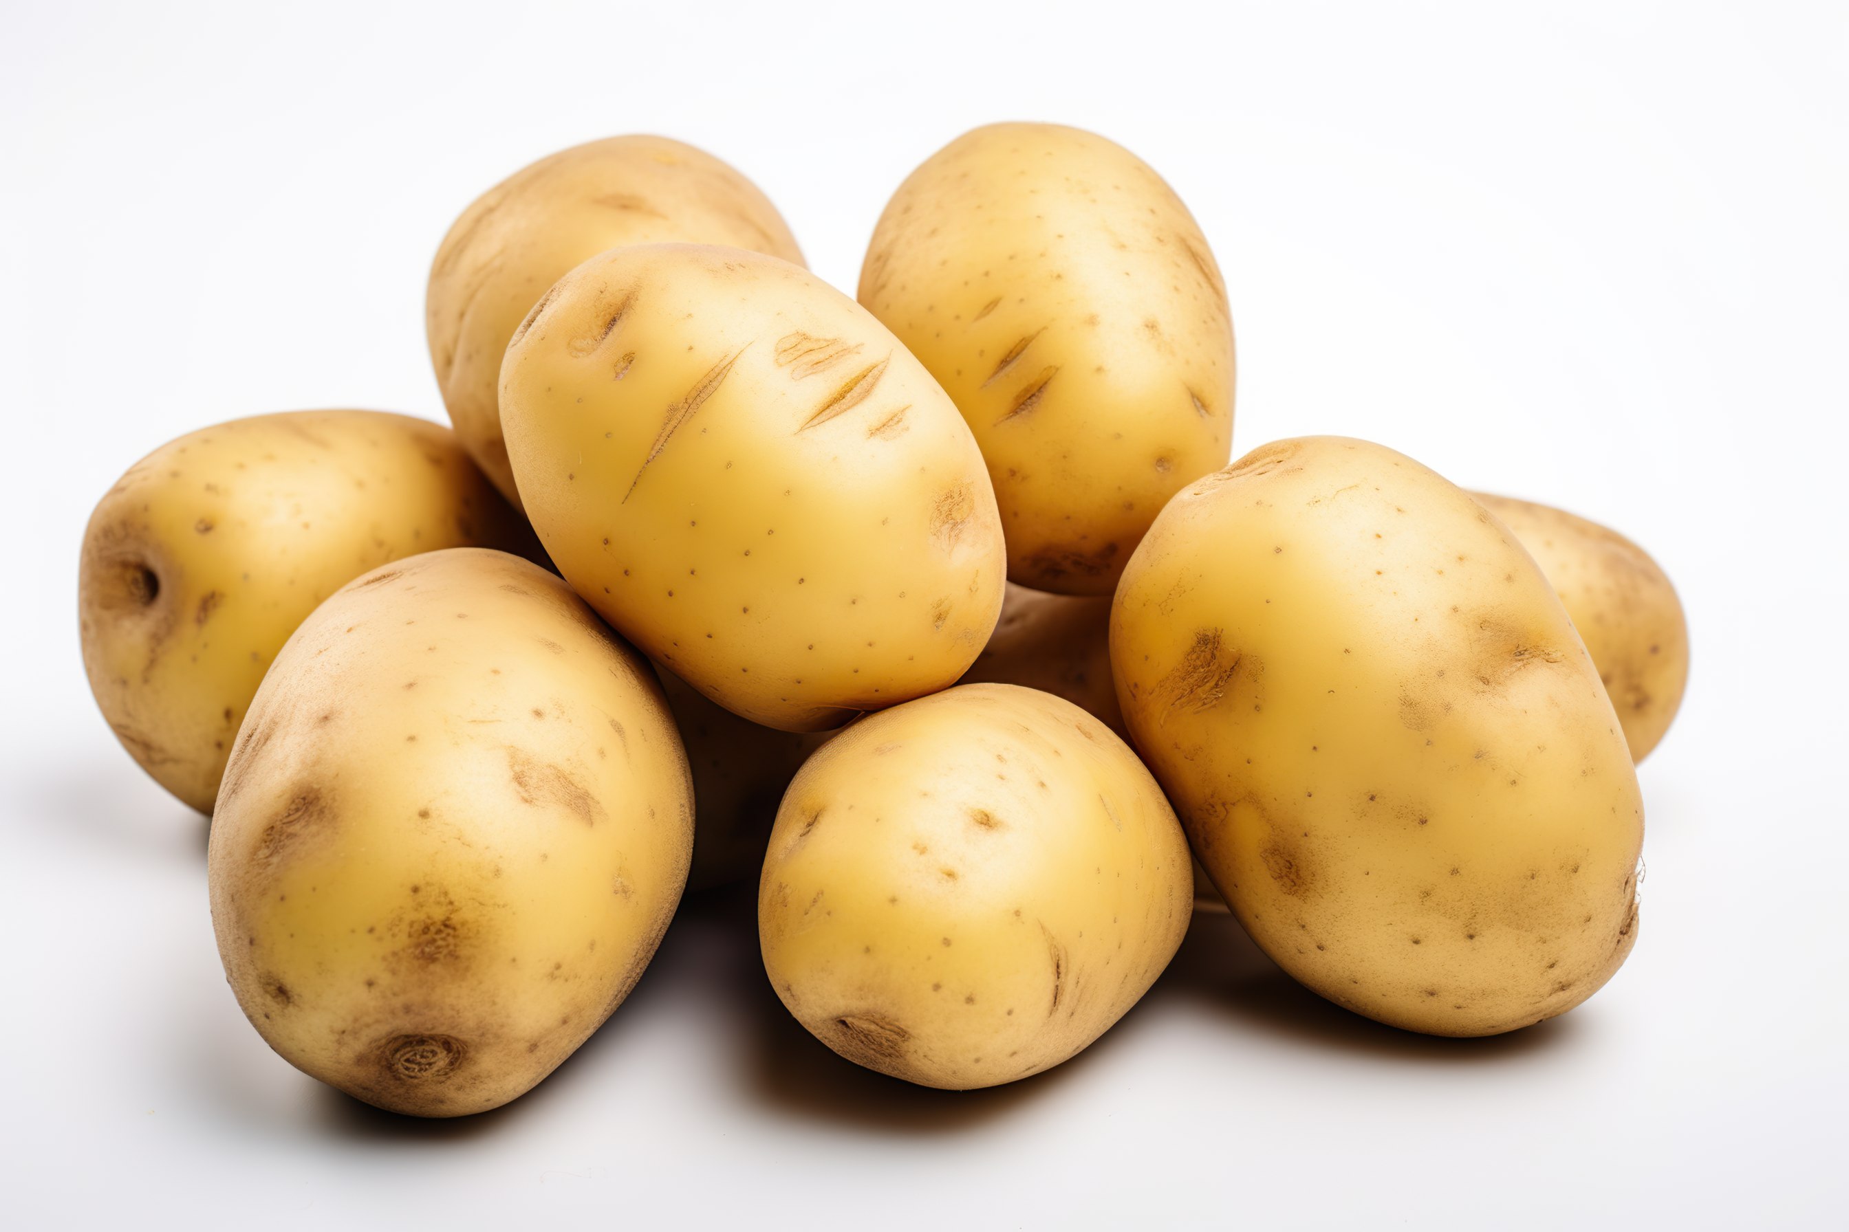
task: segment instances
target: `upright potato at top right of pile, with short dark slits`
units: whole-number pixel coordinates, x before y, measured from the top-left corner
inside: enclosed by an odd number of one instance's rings
[[[1182,199],[1133,153],[1058,124],[991,124],[899,187],[860,303],[969,421],[1008,576],[1109,595],[1185,484],[1226,465],[1233,325]]]

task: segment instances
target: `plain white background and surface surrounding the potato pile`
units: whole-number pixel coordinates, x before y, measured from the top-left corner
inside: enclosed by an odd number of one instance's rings
[[[1843,15],[6,0],[0,1221],[1842,1219]],[[1618,526],[1677,580],[1696,667],[1642,767],[1629,964],[1562,1020],[1429,1040],[1316,1001],[1200,918],[1093,1049],[952,1095],[810,1040],[764,981],[749,894],[717,896],[501,1112],[401,1119],[290,1069],[220,975],[205,820],[85,689],[91,504],[235,416],[440,419],[431,253],[551,150],[704,146],[852,290],[900,177],[998,118],[1098,129],[1194,209],[1233,299],[1235,454],[1374,438]]]

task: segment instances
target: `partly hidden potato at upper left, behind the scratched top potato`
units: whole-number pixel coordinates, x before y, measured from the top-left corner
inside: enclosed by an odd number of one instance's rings
[[[606,137],[521,168],[462,211],[431,264],[425,332],[457,436],[520,504],[501,441],[501,355],[553,283],[623,244],[729,244],[802,264],[756,185],[667,137]]]

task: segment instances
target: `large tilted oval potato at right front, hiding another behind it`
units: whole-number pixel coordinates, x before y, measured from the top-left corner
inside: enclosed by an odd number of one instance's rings
[[[1411,458],[1289,440],[1182,491],[1111,667],[1215,887],[1324,997],[1494,1034],[1631,951],[1644,807],[1598,670],[1516,537]]]

